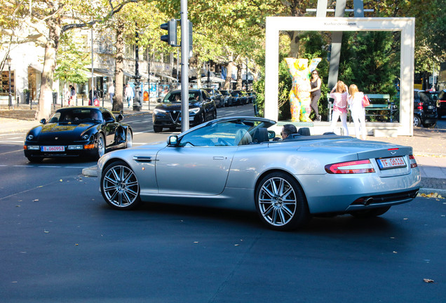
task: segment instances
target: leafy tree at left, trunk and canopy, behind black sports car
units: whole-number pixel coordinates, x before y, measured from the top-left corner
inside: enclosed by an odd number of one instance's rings
[[[34,41],[45,48],[43,72],[41,77],[41,88],[39,105],[36,110],[36,119],[48,118],[51,112],[53,79],[56,64],[56,53],[58,52],[60,36],[67,31],[76,28],[93,26],[97,22],[104,22],[115,13],[121,11],[126,4],[140,0],[80,2],[75,0],[34,0],[29,6],[22,1],[4,0],[6,5],[11,6],[12,20],[21,22],[29,29],[34,29]],[[11,30],[11,35],[15,32]]]

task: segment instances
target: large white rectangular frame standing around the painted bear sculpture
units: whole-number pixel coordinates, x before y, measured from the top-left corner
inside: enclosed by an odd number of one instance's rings
[[[266,17],[265,118],[278,120],[278,38],[280,31],[401,32],[400,123],[397,135],[413,135],[415,18]],[[377,92],[379,93],[379,92]]]

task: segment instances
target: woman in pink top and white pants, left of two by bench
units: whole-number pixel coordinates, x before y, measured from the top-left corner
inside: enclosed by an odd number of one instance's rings
[[[337,81],[336,85],[330,92],[330,97],[333,101],[332,124],[330,131],[334,131],[337,120],[341,117],[342,128],[344,135],[349,135],[349,128],[347,128],[347,98],[349,97],[348,88],[342,81]]]

